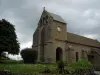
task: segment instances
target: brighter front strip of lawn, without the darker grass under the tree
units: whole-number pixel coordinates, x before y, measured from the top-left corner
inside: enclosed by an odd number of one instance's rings
[[[22,73],[39,73],[43,71],[46,66],[52,70],[56,69],[56,65],[53,64],[0,64],[0,70]]]

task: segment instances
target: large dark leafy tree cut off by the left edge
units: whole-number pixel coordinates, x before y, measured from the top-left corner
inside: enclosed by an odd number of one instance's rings
[[[18,54],[19,48],[14,25],[5,19],[0,20],[0,57],[4,51],[9,54]]]

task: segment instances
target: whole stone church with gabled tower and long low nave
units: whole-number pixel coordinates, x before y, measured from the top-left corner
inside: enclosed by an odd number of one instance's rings
[[[43,10],[33,34],[32,49],[38,52],[38,62],[75,63],[88,59],[100,68],[100,42],[67,32],[67,23],[59,15]]]

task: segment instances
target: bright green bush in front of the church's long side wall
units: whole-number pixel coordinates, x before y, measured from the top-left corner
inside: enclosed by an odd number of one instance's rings
[[[95,75],[93,72],[93,65],[90,61],[86,59],[81,59],[77,61],[76,63],[71,65],[73,68],[73,71],[71,72],[71,75]]]

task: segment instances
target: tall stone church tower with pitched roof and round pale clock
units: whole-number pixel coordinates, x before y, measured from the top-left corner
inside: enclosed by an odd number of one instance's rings
[[[65,49],[66,23],[56,14],[43,10],[33,35],[33,48],[38,52],[38,62],[56,61],[56,48]],[[63,45],[63,46],[62,46]]]

